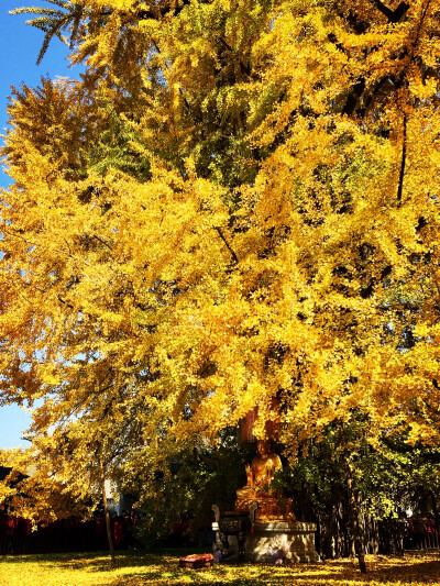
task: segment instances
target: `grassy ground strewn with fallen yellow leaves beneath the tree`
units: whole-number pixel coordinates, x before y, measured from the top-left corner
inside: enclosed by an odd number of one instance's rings
[[[406,552],[403,556],[367,556],[369,574],[354,560],[318,564],[215,565],[182,570],[178,560],[190,553],[120,553],[117,567],[106,554],[4,556],[0,586],[144,586],[144,585],[282,585],[295,586],[419,586],[440,585],[440,551]]]

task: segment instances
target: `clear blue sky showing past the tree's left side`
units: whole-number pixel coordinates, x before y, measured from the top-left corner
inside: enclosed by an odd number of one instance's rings
[[[68,48],[55,38],[40,66],[35,65],[43,33],[24,22],[28,14],[9,15],[9,11],[23,5],[48,5],[43,0],[0,0],[0,128],[2,134],[7,126],[7,103],[11,85],[20,87],[22,82],[35,87],[41,77],[48,75],[78,77],[75,69],[68,69]],[[9,177],[0,172],[0,187],[10,184]],[[19,447],[26,442],[21,440],[22,432],[30,424],[30,416],[15,406],[0,407],[0,450]]]

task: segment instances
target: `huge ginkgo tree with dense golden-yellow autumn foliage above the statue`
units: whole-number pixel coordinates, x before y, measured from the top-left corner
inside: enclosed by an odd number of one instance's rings
[[[255,406],[349,487],[360,410],[437,444],[439,1],[53,4],[86,71],[9,106],[3,400],[145,487]]]

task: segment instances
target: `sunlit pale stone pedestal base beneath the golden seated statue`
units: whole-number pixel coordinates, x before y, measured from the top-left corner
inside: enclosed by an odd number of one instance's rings
[[[255,522],[252,532],[246,533],[244,557],[249,562],[274,563],[276,559],[286,562],[319,562],[315,550],[315,523]]]

